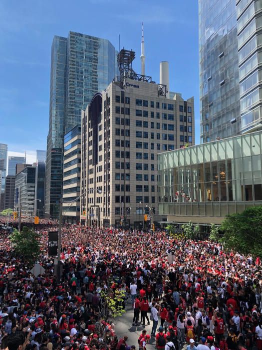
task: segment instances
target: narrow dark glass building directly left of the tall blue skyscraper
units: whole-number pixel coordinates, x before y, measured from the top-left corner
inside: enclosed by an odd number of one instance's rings
[[[45,160],[37,160],[35,178],[34,214],[44,217]]]

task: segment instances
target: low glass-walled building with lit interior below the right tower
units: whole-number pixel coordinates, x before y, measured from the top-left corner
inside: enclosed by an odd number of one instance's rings
[[[225,216],[262,205],[262,132],[158,154],[159,214]]]

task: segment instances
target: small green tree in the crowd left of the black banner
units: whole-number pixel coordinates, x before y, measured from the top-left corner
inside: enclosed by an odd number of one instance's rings
[[[13,243],[15,253],[22,256],[29,265],[32,265],[39,258],[40,235],[32,228],[24,226],[21,231],[14,229],[9,238]]]

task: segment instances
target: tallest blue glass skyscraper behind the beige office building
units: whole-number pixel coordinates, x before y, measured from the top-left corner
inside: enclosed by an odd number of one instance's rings
[[[54,36],[51,48],[50,112],[47,136],[45,216],[57,218],[62,195],[64,134],[81,123],[93,95],[116,74],[110,41],[70,31]]]

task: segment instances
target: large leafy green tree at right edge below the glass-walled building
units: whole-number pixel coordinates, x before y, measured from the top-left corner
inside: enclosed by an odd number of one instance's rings
[[[222,222],[225,248],[242,254],[262,256],[262,206],[252,206],[242,213],[227,215]]]

